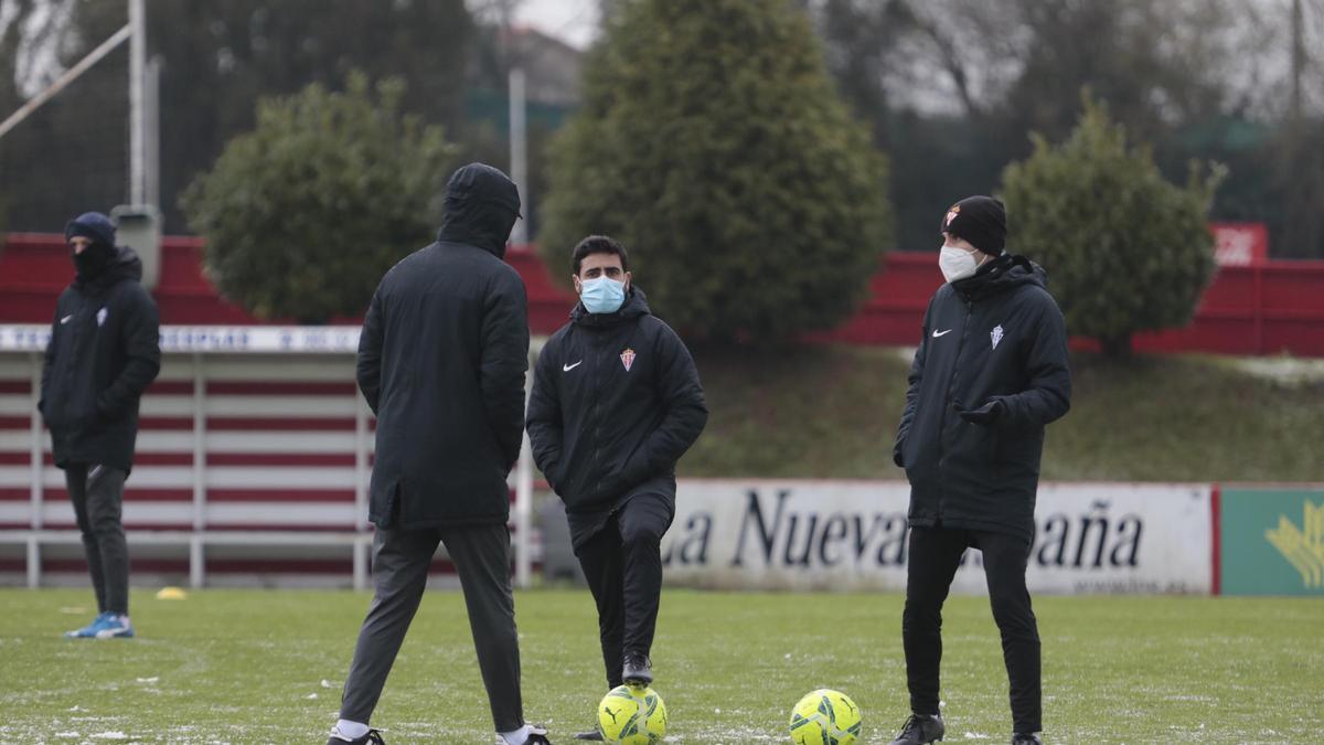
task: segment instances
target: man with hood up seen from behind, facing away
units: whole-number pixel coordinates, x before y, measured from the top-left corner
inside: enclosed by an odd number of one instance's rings
[[[357,376],[377,415],[375,594],[328,745],[381,742],[368,720],[438,544],[465,593],[496,742],[547,742],[524,722],[510,582],[506,479],[523,441],[528,317],[524,284],[502,257],[518,216],[506,174],[459,168],[437,243],[387,272],[368,306]]]

